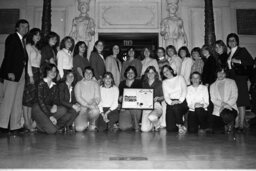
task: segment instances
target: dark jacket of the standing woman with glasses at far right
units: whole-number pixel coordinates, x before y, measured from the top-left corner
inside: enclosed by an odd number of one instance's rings
[[[236,74],[250,74],[250,71],[247,69],[253,68],[254,61],[246,48],[238,47],[234,55],[232,56],[232,59],[238,59],[242,62],[241,64],[232,64],[232,68],[235,70]]]

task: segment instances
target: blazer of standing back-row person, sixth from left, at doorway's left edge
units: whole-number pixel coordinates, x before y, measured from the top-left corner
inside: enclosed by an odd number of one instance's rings
[[[105,61],[97,52],[92,52],[90,55],[90,65],[94,70],[94,76],[98,80],[103,77],[106,71]]]

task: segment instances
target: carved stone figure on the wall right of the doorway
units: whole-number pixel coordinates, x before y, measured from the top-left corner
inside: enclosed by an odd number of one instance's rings
[[[179,0],[166,0],[169,16],[161,21],[160,35],[165,40],[165,46],[173,45],[178,50],[181,46],[187,46],[187,37],[183,21],[177,16]]]

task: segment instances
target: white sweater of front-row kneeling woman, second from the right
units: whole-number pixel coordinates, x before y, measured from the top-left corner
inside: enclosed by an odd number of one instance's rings
[[[209,105],[208,88],[204,85],[199,85],[198,87],[191,85],[188,87],[186,99],[190,111],[195,111],[196,103],[203,104],[205,110],[207,110]]]

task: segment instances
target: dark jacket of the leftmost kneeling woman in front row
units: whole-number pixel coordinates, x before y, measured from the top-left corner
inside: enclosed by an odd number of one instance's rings
[[[51,116],[49,106],[59,105],[58,87],[53,85],[49,88],[48,84],[41,80],[38,84],[37,101],[41,110],[47,115]]]

